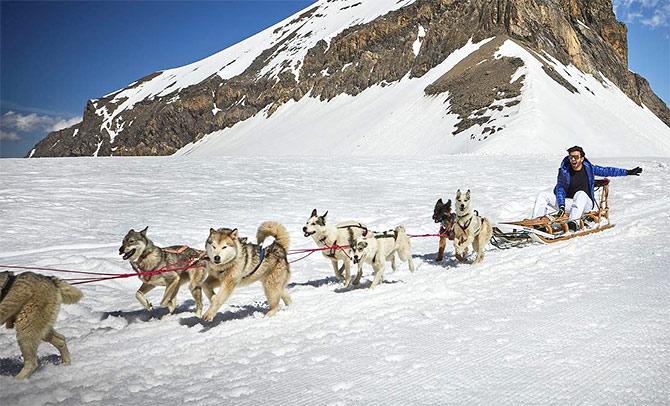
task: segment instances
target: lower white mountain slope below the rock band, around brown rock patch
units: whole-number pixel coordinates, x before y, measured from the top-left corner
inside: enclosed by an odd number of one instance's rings
[[[607,78],[596,79],[548,55],[542,57],[579,91],[570,93],[542,70],[538,58],[512,40],[500,47],[497,57],[523,60],[524,66],[511,78],[523,80],[521,103],[491,109],[486,113],[492,117],[489,123],[452,135],[458,117],[449,112],[448,93],[426,96],[424,89],[488,41],[468,43],[421,78],[405,77],[355,97],[340,95],[327,102],[311,97],[290,101],[269,118],[256,115],[209,134],[177,154],[550,154],[580,144],[601,156],[670,156],[670,127]],[[471,140],[471,135],[480,135],[487,126],[501,130],[484,141]]]

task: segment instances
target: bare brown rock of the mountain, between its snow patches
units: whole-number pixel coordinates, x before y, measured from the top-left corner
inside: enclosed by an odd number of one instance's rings
[[[288,61],[276,75],[264,71],[274,56],[295,51],[300,38],[292,27],[318,18],[321,4],[277,28],[281,40],[259,52],[240,74],[228,79],[215,74],[180,91],[144,99],[120,113],[115,113],[124,102],[115,99],[119,92],[89,101],[82,123],[49,134],[36,145],[33,156],[169,155],[205,134],[254,115],[270,116],[289,100],[330,100],[407,75],[421,77],[470,39],[477,42],[491,37],[497,39],[469,58],[470,62],[472,58],[486,60],[484,63],[472,66],[464,61],[426,89],[428,95],[449,92],[452,112],[461,118],[455,134],[487,122],[484,113],[496,101],[515,103],[513,99],[519,96],[521,81],[510,83],[510,77],[521,61],[492,58],[495,44],[505,38],[535,52],[538,59],[549,55],[598,79],[603,79],[602,73],[670,125],[665,103],[644,78],[628,70],[626,27],[616,20],[611,0],[417,0],[347,28],[329,42],[317,42],[307,51],[297,75]],[[425,34],[417,50],[421,30]],[[549,76],[577,92],[552,70],[545,66]],[[491,130],[495,132],[495,127]]]

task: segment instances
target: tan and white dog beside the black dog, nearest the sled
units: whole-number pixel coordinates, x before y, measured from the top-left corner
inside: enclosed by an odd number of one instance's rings
[[[491,241],[493,226],[491,222],[479,214],[473,213],[470,190],[456,193],[456,226],[454,227],[454,254],[460,262],[465,262],[468,248],[472,245],[477,253],[475,264],[484,260],[484,248]]]

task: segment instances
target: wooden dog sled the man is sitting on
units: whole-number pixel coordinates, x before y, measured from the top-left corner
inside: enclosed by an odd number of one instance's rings
[[[614,227],[609,219],[609,179],[597,179],[595,190],[600,199],[594,210],[584,213],[581,219],[569,221],[562,217],[543,216],[522,221],[498,223],[493,227],[491,244],[506,249],[531,242],[553,243],[587,234],[598,233]]]

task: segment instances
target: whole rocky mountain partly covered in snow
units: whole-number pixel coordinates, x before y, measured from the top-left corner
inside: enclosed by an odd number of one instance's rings
[[[29,153],[670,156],[611,0],[321,0],[90,100]]]

